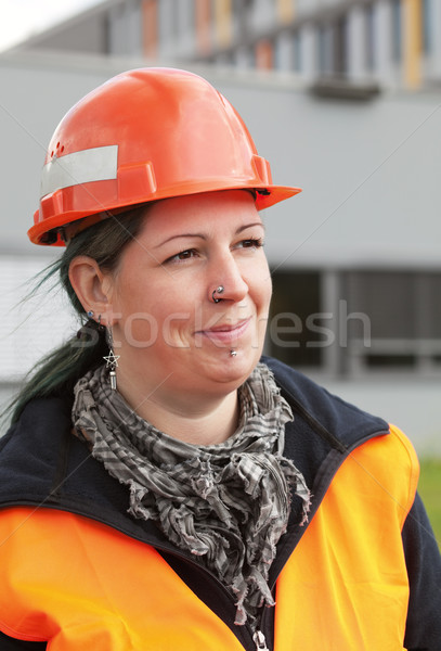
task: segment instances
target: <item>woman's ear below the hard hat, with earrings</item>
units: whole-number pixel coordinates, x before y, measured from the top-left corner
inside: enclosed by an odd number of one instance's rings
[[[112,276],[103,273],[93,258],[80,255],[70,263],[69,280],[85,311],[101,315],[103,326],[112,324],[108,323],[112,318]]]

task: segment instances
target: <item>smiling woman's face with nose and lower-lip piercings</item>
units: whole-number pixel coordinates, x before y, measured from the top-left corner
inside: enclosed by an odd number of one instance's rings
[[[262,352],[271,298],[263,237],[254,197],[243,190],[148,208],[109,284],[126,398],[138,386],[181,401],[226,394],[246,380]]]

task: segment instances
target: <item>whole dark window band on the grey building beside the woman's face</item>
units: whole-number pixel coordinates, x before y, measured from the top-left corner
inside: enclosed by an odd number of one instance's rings
[[[441,271],[273,273],[265,350],[347,376],[441,374]]]

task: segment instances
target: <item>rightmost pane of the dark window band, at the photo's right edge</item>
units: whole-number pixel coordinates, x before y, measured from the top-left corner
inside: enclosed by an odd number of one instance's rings
[[[342,295],[371,330],[363,341],[360,321],[348,323],[348,370],[441,371],[440,272],[348,272]]]

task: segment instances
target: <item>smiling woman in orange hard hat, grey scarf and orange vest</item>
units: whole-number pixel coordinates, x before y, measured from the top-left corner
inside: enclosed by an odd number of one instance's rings
[[[412,446],[261,360],[259,209],[298,191],[183,71],[57,127],[29,237],[85,326],[1,442],[1,649],[439,649]]]

